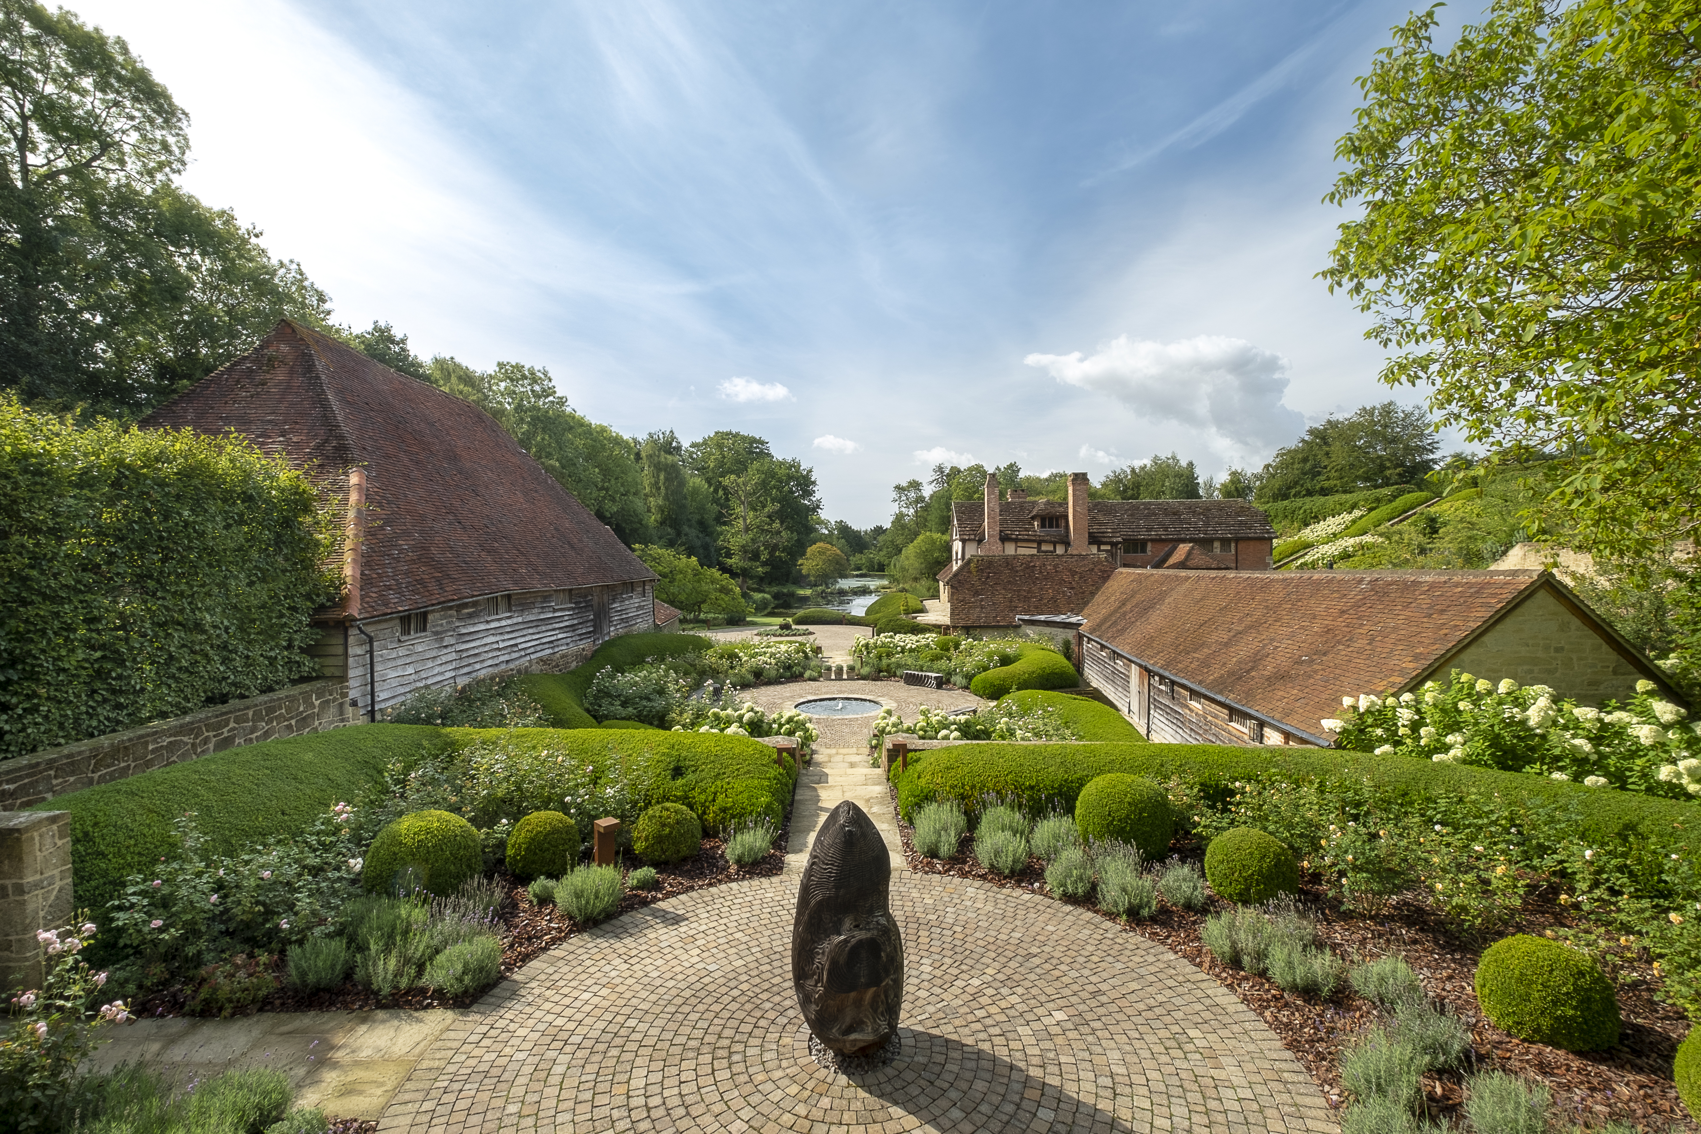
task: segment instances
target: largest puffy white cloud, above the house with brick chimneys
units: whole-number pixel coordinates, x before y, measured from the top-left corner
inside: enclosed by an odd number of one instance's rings
[[[1300,411],[1283,405],[1288,359],[1243,338],[1160,343],[1123,335],[1092,355],[1075,350],[1022,360],[1060,383],[1109,394],[1153,423],[1199,430],[1211,449],[1237,461],[1267,454],[1305,428]],[[1153,440],[1167,444],[1162,434]]]

